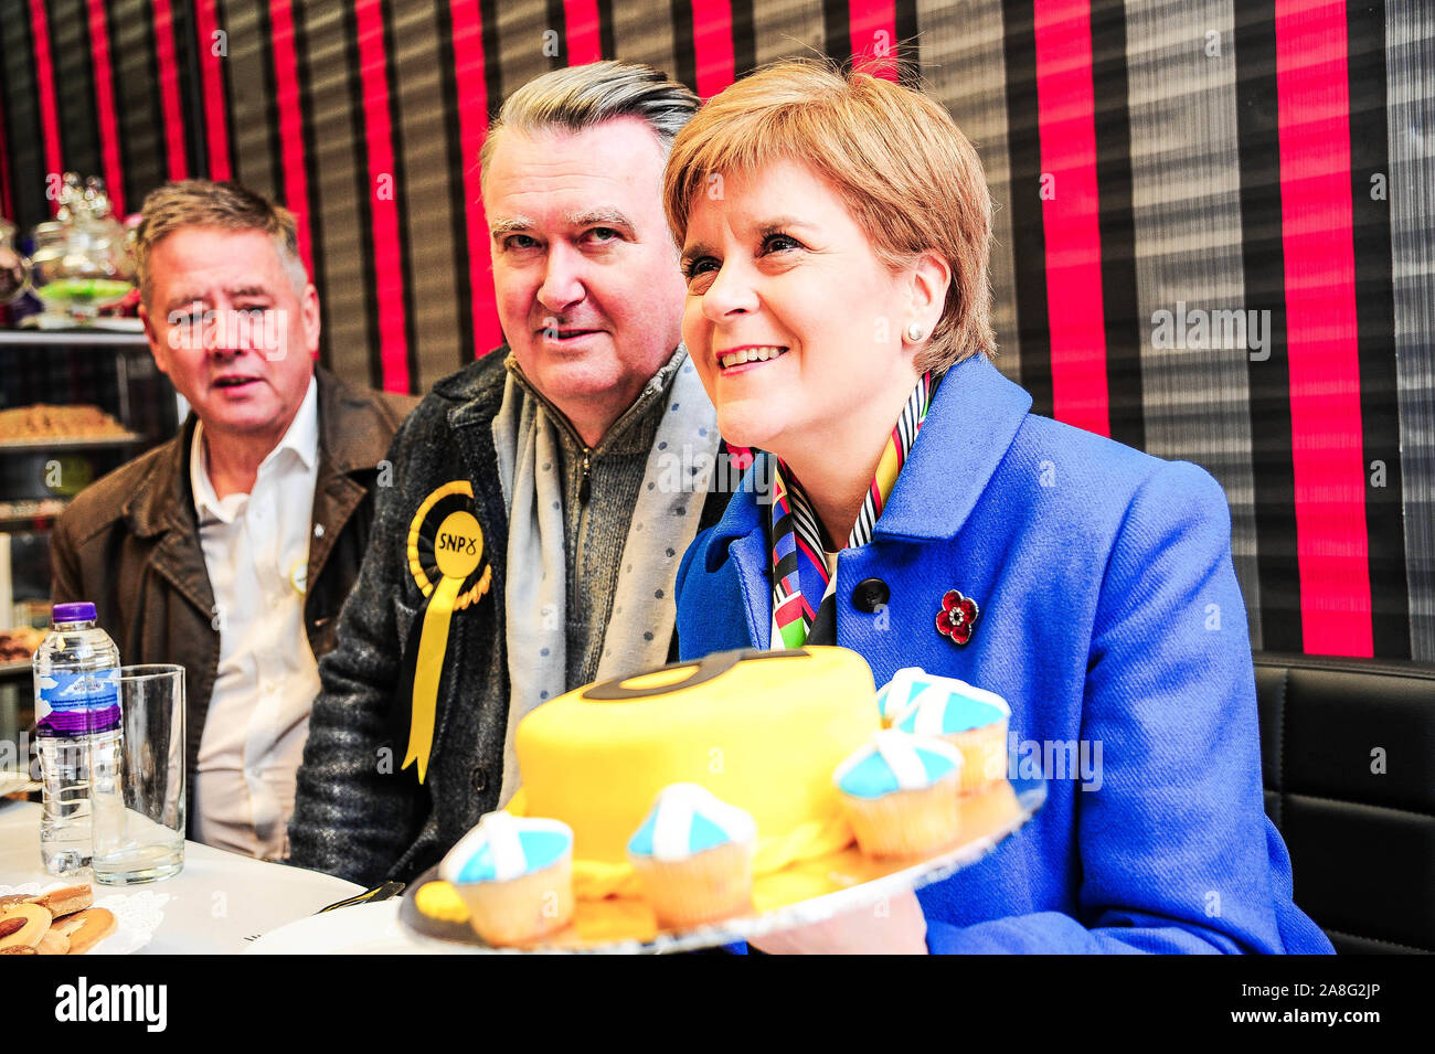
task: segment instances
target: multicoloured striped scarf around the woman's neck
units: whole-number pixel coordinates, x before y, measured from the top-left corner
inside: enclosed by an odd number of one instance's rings
[[[847,548],[872,539],[897,473],[907,463],[921,423],[931,407],[936,381],[924,373],[913,389],[897,426],[887,439],[877,472],[867,488]],[[786,465],[778,459],[773,472],[772,518],[772,640],[771,648],[801,648],[804,644],[837,644],[837,556],[828,564],[822,525]],[[817,609],[812,597],[821,598]]]

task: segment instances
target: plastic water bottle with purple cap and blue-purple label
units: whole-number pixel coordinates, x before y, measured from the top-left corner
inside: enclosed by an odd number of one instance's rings
[[[92,773],[119,766],[119,648],[93,604],[56,604],[34,652],[34,734],[44,780],[40,860],[52,875],[89,866]]]

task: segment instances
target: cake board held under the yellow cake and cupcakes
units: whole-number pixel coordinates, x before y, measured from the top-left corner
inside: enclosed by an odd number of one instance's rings
[[[522,948],[491,948],[468,922],[420,911],[425,885],[438,882],[433,868],[419,876],[399,908],[400,922],[435,952],[607,952],[664,954],[742,942],[763,934],[825,922],[847,912],[875,908],[884,899],[940,882],[993,852],[1015,835],[1046,800],[1043,780],[1002,780],[961,800],[959,845],[921,860],[883,860],[851,845],[827,856],[792,863],[753,880],[751,915],[687,931],[660,931],[639,898],[580,901],[574,921],[544,941]]]

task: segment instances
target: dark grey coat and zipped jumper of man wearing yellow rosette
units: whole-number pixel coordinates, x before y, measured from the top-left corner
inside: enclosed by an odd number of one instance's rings
[[[389,452],[393,485],[379,492],[369,552],[340,615],[339,645],[319,667],[323,691],[310,717],[288,827],[291,863],[363,885],[409,880],[498,807],[509,698],[504,632],[508,515],[492,422],[504,397],[505,357],[507,348],[499,348],[441,380],[395,437]],[[591,502],[588,531],[616,538],[618,545],[651,445],[651,435],[646,442],[643,435],[629,436],[611,456],[593,460],[591,499],[590,488],[578,498],[575,475],[565,485],[573,503]],[[399,698],[403,651],[425,602],[409,571],[408,535],[423,499],[453,479],[472,483],[485,562],[494,576],[488,594],[452,618],[433,747],[420,784],[415,766],[399,767],[410,706]],[[716,522],[726,498],[718,490],[707,496],[705,526]],[[616,565],[617,554],[607,559]],[[575,597],[570,589],[570,607],[597,625],[601,642],[611,578],[578,575],[588,592],[598,579],[598,591],[608,595]],[[570,628],[570,640],[573,632]]]

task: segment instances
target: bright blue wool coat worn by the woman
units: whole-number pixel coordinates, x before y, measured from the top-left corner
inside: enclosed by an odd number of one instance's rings
[[[1330,952],[1261,807],[1220,485],[1030,404],[983,357],[953,367],[872,541],[837,564],[837,642],[877,684],[905,665],[960,677],[1010,703],[1019,757],[1075,741],[1088,760],[1048,771],[1045,807],[994,853],[918,892],[930,949]],[[735,495],[684,555],[684,658],[768,647],[766,512]],[[852,604],[868,578],[891,592],[877,612]],[[949,589],[980,608],[966,645],[936,628]]]

